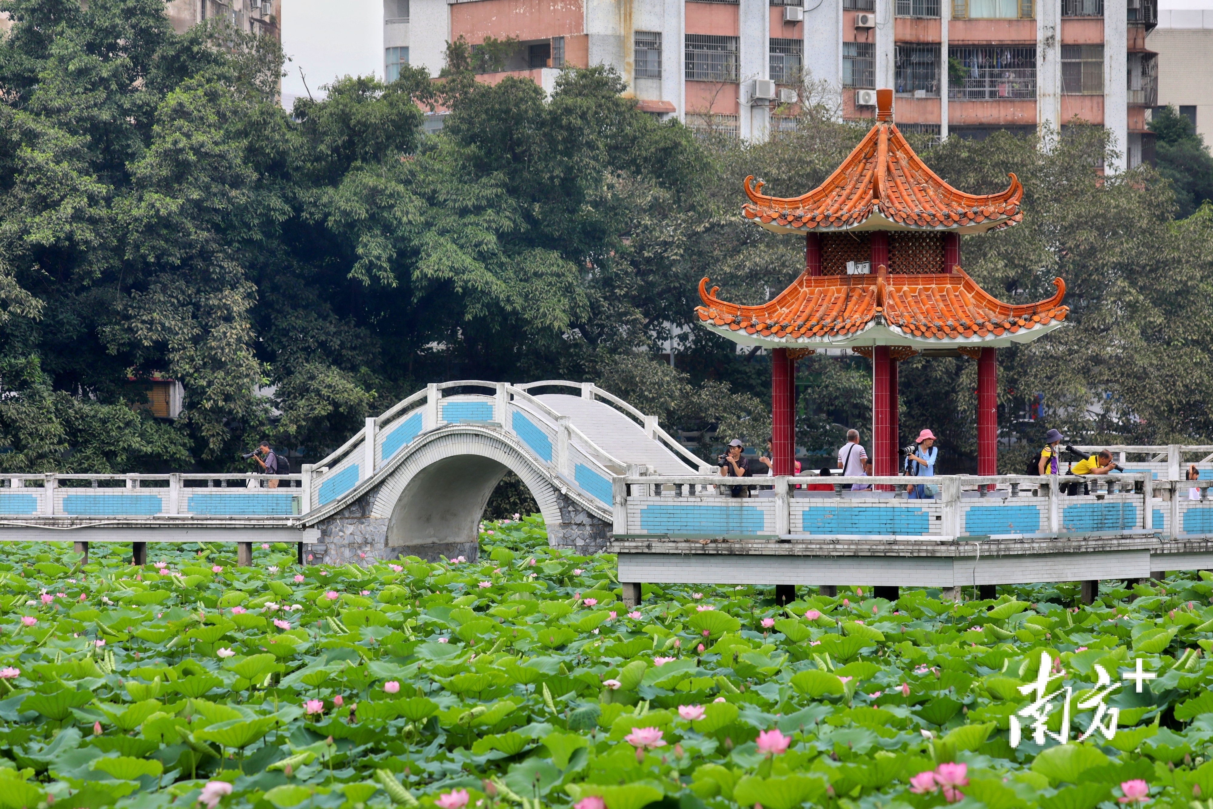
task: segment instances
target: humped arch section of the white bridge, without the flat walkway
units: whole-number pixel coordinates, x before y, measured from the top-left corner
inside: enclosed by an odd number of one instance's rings
[[[576,393],[531,394],[536,388]],[[513,472],[554,545],[594,552],[610,539],[611,477],[642,467],[710,469],[656,417],[592,383],[431,384],[303,468],[312,475],[303,522],[319,528],[313,556],[326,563],[359,554],[473,558],[489,496]]]

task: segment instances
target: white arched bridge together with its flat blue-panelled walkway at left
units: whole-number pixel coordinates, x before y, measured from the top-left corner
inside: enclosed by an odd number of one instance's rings
[[[456,381],[368,418],[275,488],[256,474],[2,475],[0,541],[132,542],[136,562],[148,542],[199,541],[238,542],[241,563],[267,541],[297,542],[312,563],[473,558],[489,496],[513,472],[552,542],[593,552],[610,539],[613,477],[710,471],[592,383]]]

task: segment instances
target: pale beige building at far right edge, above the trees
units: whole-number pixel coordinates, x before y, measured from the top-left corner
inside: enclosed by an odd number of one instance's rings
[[[1213,10],[1160,10],[1146,44],[1158,53],[1158,104],[1175,107],[1213,146]]]

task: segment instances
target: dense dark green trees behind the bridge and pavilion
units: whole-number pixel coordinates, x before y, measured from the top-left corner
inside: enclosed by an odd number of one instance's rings
[[[494,52],[455,42],[438,81],[346,78],[287,113],[277,45],[220,23],[177,35],[161,0],[0,8],[0,469],[245,469],[238,450],[263,435],[315,460],[450,378],[599,381],[705,452],[713,431],[767,438],[767,359],[696,325],[696,285],[754,303],[799,272],[801,241],[738,207],[747,173],[802,193],[862,136],[820,87],[795,132],[696,138],[609,70],[564,72],[547,98],[478,84]],[[1072,326],[1001,355],[1003,468],[1049,426],[1208,440],[1213,211],[1173,218],[1177,194],[1198,201],[1188,181],[1101,176],[1098,127],[921,147],[966,190],[1024,181],[1021,227],[964,239],[972,274],[1016,302],[1069,285]],[[155,372],[184,386],[172,425],[120,412]],[[869,374],[801,363],[810,454],[847,427],[867,438]],[[915,358],[901,378],[902,443],[932,427],[940,471],[972,471],[974,364]]]

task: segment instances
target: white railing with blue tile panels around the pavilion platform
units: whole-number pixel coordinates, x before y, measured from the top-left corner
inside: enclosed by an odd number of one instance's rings
[[[871,488],[853,490],[853,484]],[[934,486],[934,496],[913,498],[907,490],[913,484]],[[935,478],[617,475],[613,519],[616,539],[627,540],[1208,537],[1213,535],[1213,479],[1194,484],[1155,480],[1149,472]],[[734,497],[736,485],[758,489],[748,497]]]

